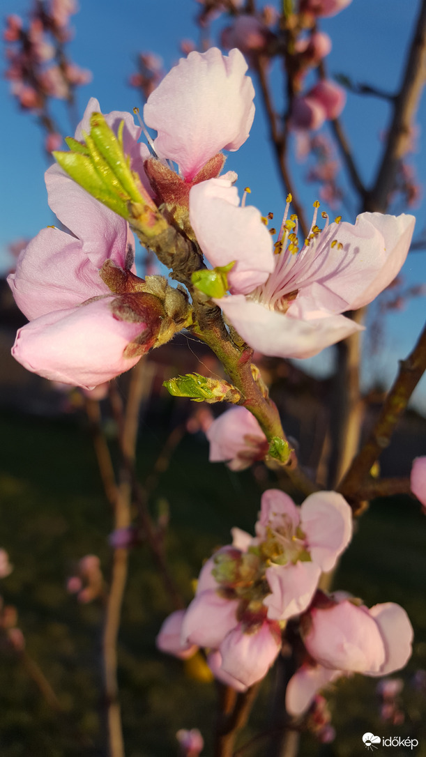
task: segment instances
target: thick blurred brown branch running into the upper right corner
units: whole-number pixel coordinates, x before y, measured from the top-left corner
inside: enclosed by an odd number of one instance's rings
[[[384,213],[393,190],[400,160],[409,151],[412,120],[421,90],[426,83],[426,0],[421,0],[409,48],[400,92],[393,102],[393,114],[377,177],[365,202],[365,210]]]

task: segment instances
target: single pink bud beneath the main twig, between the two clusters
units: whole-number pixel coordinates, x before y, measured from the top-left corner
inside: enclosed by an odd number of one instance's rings
[[[244,470],[262,459],[268,442],[257,419],[245,407],[232,407],[207,429],[210,463],[229,461],[231,470]]]

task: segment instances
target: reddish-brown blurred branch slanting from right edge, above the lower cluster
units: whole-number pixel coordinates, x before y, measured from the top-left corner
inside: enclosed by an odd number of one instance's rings
[[[350,470],[340,484],[340,492],[357,509],[363,481],[368,476],[373,463],[380,453],[390,444],[390,438],[409,398],[426,370],[426,326],[418,339],[412,353],[400,363],[400,370],[387,394],[384,406],[368,441],[353,460]]]

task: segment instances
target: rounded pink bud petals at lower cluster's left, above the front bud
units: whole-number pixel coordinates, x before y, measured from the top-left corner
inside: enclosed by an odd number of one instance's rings
[[[211,589],[192,600],[182,624],[182,642],[217,648],[237,625],[238,601],[226,600]]]

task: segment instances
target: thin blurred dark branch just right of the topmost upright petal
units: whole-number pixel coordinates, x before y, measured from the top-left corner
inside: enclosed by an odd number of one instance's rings
[[[287,157],[286,157],[287,139],[286,139],[285,133],[284,132],[281,133],[281,129],[278,128],[277,114],[275,113],[275,109],[272,104],[272,97],[271,97],[271,92],[269,90],[268,76],[266,73],[267,64],[268,64],[268,61],[266,60],[266,58],[263,58],[262,56],[259,56],[259,58],[257,58],[257,76],[260,83],[260,92],[262,92],[263,105],[265,107],[266,116],[268,117],[269,138],[271,139],[272,145],[274,146],[274,149],[275,149],[275,154],[277,156],[278,167],[281,173],[281,179],[284,184],[285,193],[286,195],[288,193],[291,194],[292,204],[293,204],[294,210],[297,213],[300,229],[303,233],[303,236],[306,238],[307,235],[309,234],[309,226],[306,223],[303,207],[300,204],[299,200],[297,199],[297,193],[294,190],[293,182],[291,181],[290,172],[288,170]]]

